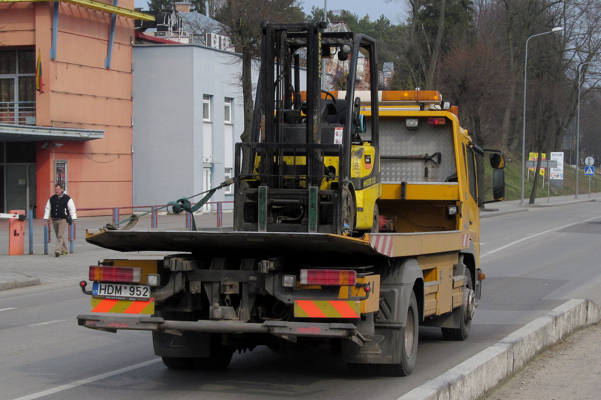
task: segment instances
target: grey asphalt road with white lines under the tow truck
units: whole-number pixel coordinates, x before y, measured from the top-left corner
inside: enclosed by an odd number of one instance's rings
[[[601,303],[600,202],[495,216],[481,227],[486,280],[472,334],[447,342],[438,329],[421,329],[409,377],[358,379],[323,349],[257,348],[234,355],[226,372],[171,371],[147,332],[79,327],[89,297],[63,281],[0,292],[0,400],[397,399],[567,299]]]

